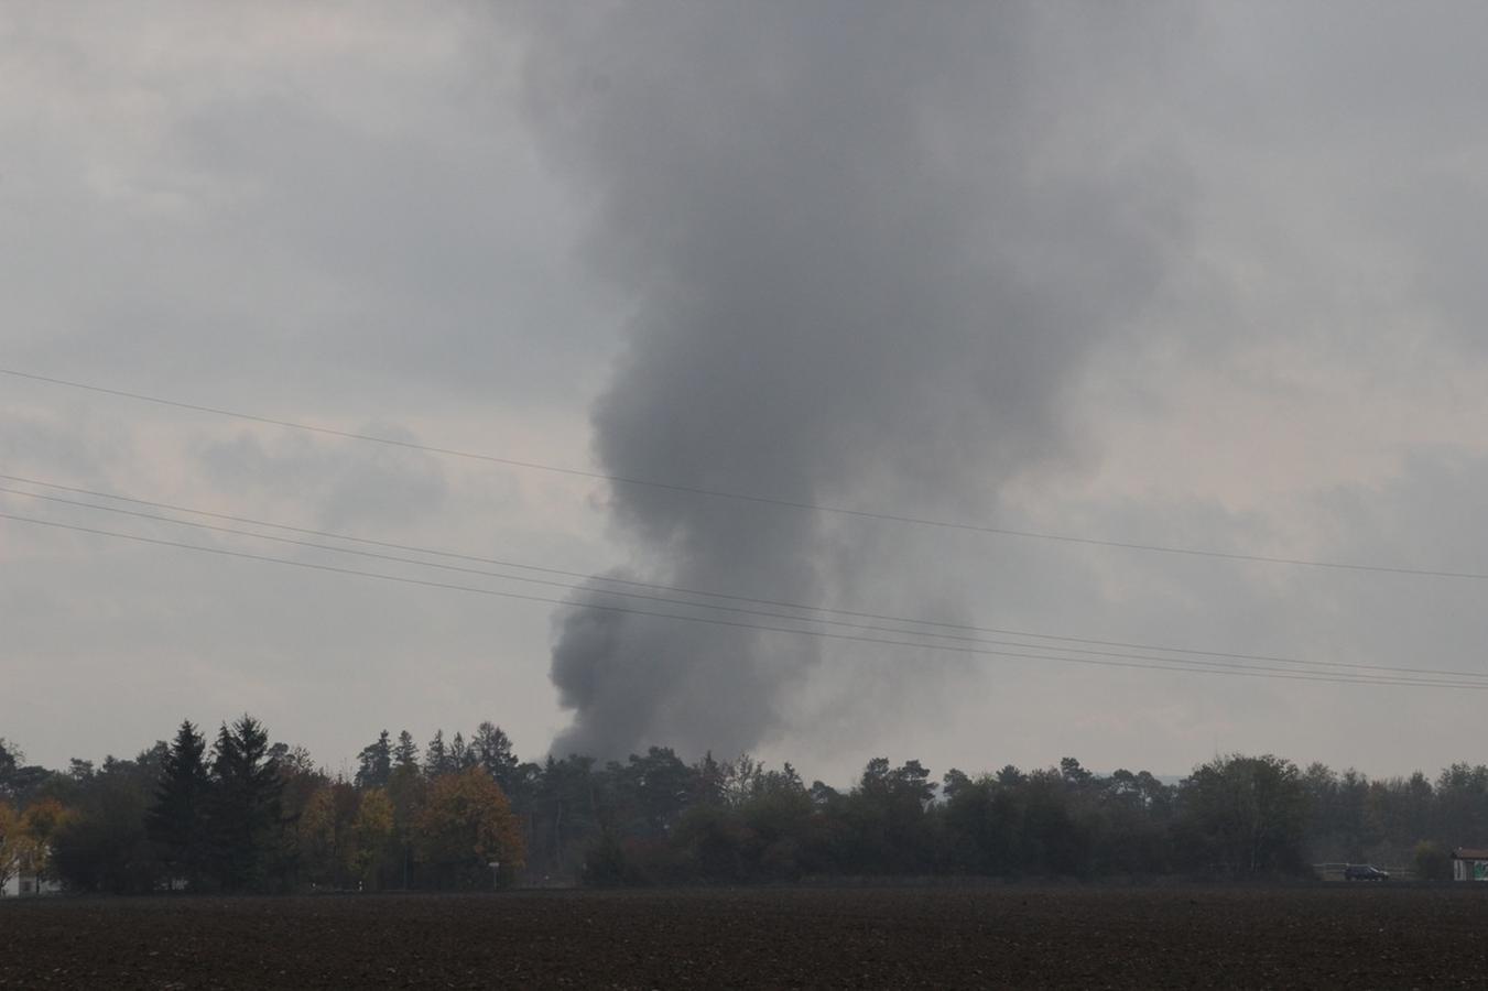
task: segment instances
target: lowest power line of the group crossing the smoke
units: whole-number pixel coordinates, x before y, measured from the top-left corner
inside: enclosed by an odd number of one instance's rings
[[[1009,658],[1009,659],[1016,659],[1016,661],[1042,661],[1042,662],[1056,661],[1059,664],[1083,664],[1083,665],[1092,665],[1092,667],[1134,668],[1134,670],[1149,670],[1149,671],[1180,671],[1180,673],[1190,673],[1190,674],[1223,674],[1223,676],[1232,676],[1232,677],[1257,677],[1257,679],[1274,679],[1274,680],[1284,680],[1284,681],[1323,681],[1323,683],[1332,683],[1332,684],[1378,684],[1378,686],[1397,686],[1397,687],[1454,687],[1454,689],[1466,689],[1466,690],[1484,690],[1484,689],[1488,689],[1488,684],[1479,683],[1479,681],[1446,681],[1446,680],[1433,680],[1433,679],[1394,679],[1394,677],[1370,677],[1370,676],[1342,676],[1342,674],[1326,674],[1326,673],[1308,673],[1308,674],[1303,674],[1303,673],[1296,673],[1296,671],[1274,673],[1274,671],[1269,671],[1269,670],[1257,670],[1257,668],[1242,667],[1242,665],[1235,665],[1234,668],[1190,667],[1190,662],[1186,662],[1183,659],[1176,659],[1176,658],[1174,659],[1167,659],[1165,658],[1164,664],[1141,664],[1141,662],[1135,662],[1135,661],[1098,661],[1098,659],[1092,659],[1092,658],[1039,656],[1039,655],[1027,655],[1027,653],[1013,653],[1013,652],[1007,652],[1007,650],[988,650],[988,649],[984,649],[984,647],[958,647],[958,646],[949,646],[949,644],[914,643],[914,641],[905,641],[905,640],[884,640],[884,638],[878,638],[878,637],[860,637],[860,635],[854,635],[854,634],[838,634],[838,632],[827,632],[827,631],[821,631],[821,629],[795,629],[795,628],[789,628],[789,626],[769,626],[769,625],[763,625],[763,623],[748,623],[748,622],[738,622],[738,620],[731,620],[731,619],[716,619],[716,618],[708,618],[708,616],[686,616],[686,615],[679,615],[679,613],[662,613],[662,612],[655,612],[655,610],[631,609],[631,607],[625,607],[625,606],[607,606],[607,604],[601,604],[601,603],[574,603],[574,601],[568,601],[568,600],[548,598],[548,597],[543,597],[543,595],[527,595],[527,594],[522,594],[522,592],[506,592],[506,591],[490,589],[490,588],[478,588],[478,586],[472,586],[472,585],[455,585],[455,583],[451,583],[451,582],[433,582],[433,580],[429,580],[429,579],[417,579],[417,577],[400,576],[400,574],[385,574],[385,573],[379,573],[379,571],[362,571],[362,570],[357,570],[357,568],[342,568],[342,567],[336,567],[336,565],[330,565],[330,564],[315,564],[315,562],[311,562],[311,561],[293,561],[293,559],[289,559],[289,558],[275,558],[275,557],[262,555],[262,554],[248,554],[248,552],[244,552],[244,551],[229,551],[226,548],[205,548],[205,546],[192,545],[192,543],[182,543],[182,542],[177,542],[177,540],[162,540],[159,537],[144,537],[144,536],[140,536],[140,534],[119,533],[119,531],[115,531],[115,530],[98,530],[98,528],[94,528],[94,527],[80,527],[80,525],[76,525],[76,524],[64,524],[64,522],[57,522],[57,521],[52,521],[52,519],[36,519],[33,516],[21,516],[21,515],[16,515],[16,513],[6,513],[6,512],[0,512],[0,519],[10,519],[10,521],[15,521],[15,522],[24,522],[24,524],[31,524],[31,525],[39,525],[39,527],[52,527],[52,528],[57,528],[57,530],[68,530],[68,531],[74,531],[74,533],[86,533],[86,534],[94,534],[94,536],[101,536],[101,537],[116,537],[116,539],[121,539],[121,540],[132,540],[132,542],[137,542],[137,543],[155,545],[155,546],[162,546],[162,548],[177,548],[177,549],[182,549],[182,551],[195,551],[195,552],[199,552],[199,554],[214,554],[214,555],[220,555],[220,557],[241,558],[241,559],[247,559],[247,561],[262,561],[262,562],[268,562],[268,564],[283,564],[283,565],[289,565],[289,567],[308,568],[308,570],[314,570],[314,571],[326,571],[326,573],[330,573],[330,574],[347,574],[347,576],[357,576],[357,577],[369,577],[369,579],[378,579],[378,580],[382,580],[382,582],[396,582],[396,583],[403,583],[403,585],[418,585],[418,586],[424,586],[424,588],[458,591],[458,592],[470,592],[470,594],[476,594],[476,595],[490,595],[490,597],[497,597],[497,598],[507,598],[507,600],[518,600],[518,601],[528,601],[528,603],[543,603],[543,604],[548,604],[548,606],[565,606],[565,607],[570,607],[570,609],[588,609],[588,610],[598,610],[598,612],[609,612],[609,613],[619,613],[619,615],[631,615],[631,616],[649,616],[649,618],[655,618],[655,619],[670,619],[670,620],[676,620],[676,622],[708,623],[708,625],[714,625],[714,626],[731,626],[731,628],[738,628],[738,629],[754,629],[754,631],[762,631],[762,632],[795,634],[795,635],[801,635],[801,637],[815,637],[818,640],[841,640],[841,641],[851,641],[851,643],[870,643],[870,644],[882,644],[882,646],[894,646],[894,647],[909,647],[909,649],[914,649],[914,650],[936,650],[936,652],[943,652],[943,653],[963,653],[963,655],[975,655],[975,656]]]

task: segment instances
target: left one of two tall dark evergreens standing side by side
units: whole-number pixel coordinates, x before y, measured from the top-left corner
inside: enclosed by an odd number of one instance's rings
[[[171,887],[202,881],[210,842],[207,835],[211,777],[207,772],[207,738],[183,720],[161,759],[159,787],[146,820],[150,841],[161,851]]]

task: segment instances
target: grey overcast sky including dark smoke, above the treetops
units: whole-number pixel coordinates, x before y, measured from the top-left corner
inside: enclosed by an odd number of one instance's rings
[[[0,366],[789,501],[1488,571],[1485,46],[1469,3],[6,4]],[[612,487],[3,375],[0,473],[759,600],[1488,676],[1488,580]],[[827,780],[1231,750],[1397,774],[1485,759],[1485,704],[0,519],[0,735],[48,765],[251,711],[333,771],[382,728],[491,719],[527,757],[750,748]]]

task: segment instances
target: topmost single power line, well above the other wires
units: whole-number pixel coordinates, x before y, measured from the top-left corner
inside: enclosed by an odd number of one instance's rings
[[[1308,568],[1327,568],[1335,571],[1370,571],[1381,574],[1409,574],[1417,577],[1436,577],[1436,579],[1466,579],[1466,580],[1488,580],[1488,573],[1482,571],[1446,571],[1436,568],[1408,568],[1385,564],[1360,564],[1351,561],[1320,561],[1312,558],[1287,558],[1287,557],[1272,557],[1263,554],[1238,554],[1231,551],[1211,551],[1204,548],[1178,548],[1171,545],[1158,543],[1137,543],[1129,540],[1103,540],[1098,537],[1080,537],[1074,534],[1062,533],[1048,533],[1040,530],[1016,530],[1012,527],[990,527],[984,524],[969,524],[955,522],[948,519],[931,519],[927,516],[911,516],[905,513],[890,513],[881,510],[869,509],[850,509],[847,506],[830,506],[826,503],[814,503],[805,500],[780,498],[774,496],[759,496],[750,493],[731,493],[719,488],[702,488],[696,485],[682,485],[677,482],[662,482],[655,479],[631,478],[626,475],[610,475],[606,472],[591,472],[585,469],[562,467],[557,464],[542,464],[537,461],[522,461],[518,458],[506,458],[494,454],[481,454],[475,451],[461,451],[457,448],[442,448],[436,445],[417,443],[414,440],[399,440],[396,437],[382,437],[368,433],[356,433],[351,430],[336,430],[333,427],[318,427],[307,423],[296,423],[293,420],[278,420],[274,417],[260,417],[256,414],[246,414],[232,409],[222,409],[217,406],[204,406],[199,403],[187,403],[174,399],[164,399],[161,396],[146,396],[144,393],[131,393],[122,388],[109,388],[104,385],[91,385],[86,382],[76,382],[64,378],[52,378],[49,375],[36,375],[31,372],[21,372],[10,368],[0,368],[0,375],[10,375],[13,378],[24,378],[33,382],[46,382],[49,385],[64,385],[67,388],[80,388],[91,393],[101,393],[104,396],[116,396],[121,399],[132,399],[144,403],[155,403],[158,406],[173,406],[176,409],[189,409],[193,412],[213,414],[216,417],[231,417],[234,420],[246,420],[250,423],[260,423],[274,427],[286,427],[290,430],[307,430],[311,433],[320,433],[332,437],[342,437],[345,440],[365,440],[369,443],[382,443],[394,448],[405,448],[411,451],[426,451],[429,454],[440,454],[445,457],[469,458],[475,461],[487,461],[491,464],[504,464],[509,467],[530,469],[534,472],[552,472],[557,475],[568,475],[573,478],[588,478],[603,482],[610,482],[615,485],[632,485],[641,488],[655,488],[673,493],[686,493],[690,496],[707,496],[710,498],[728,498],[735,501],[757,503],[768,506],[781,506],[786,509],[801,509],[818,513],[833,513],[839,516],[853,516],[859,519],[878,519],[884,522],[899,522],[912,524],[917,527],[936,527],[943,530],[963,530],[970,533],[987,533],[997,534],[1003,537],[1024,537],[1030,540],[1052,540],[1059,543],[1076,543],[1094,548],[1116,548],[1122,551],[1141,551],[1147,554],[1170,554],[1181,557],[1198,557],[1198,558],[1219,558],[1225,561],[1248,561],[1254,564],[1286,564],[1292,567],[1308,567]]]

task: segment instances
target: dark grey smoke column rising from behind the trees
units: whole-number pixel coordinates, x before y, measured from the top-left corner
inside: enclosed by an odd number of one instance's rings
[[[985,519],[1001,484],[1065,452],[1061,390],[1181,226],[1144,137],[1171,16],[530,9],[533,119],[597,204],[597,268],[635,301],[592,411],[603,469]],[[873,534],[842,554],[844,524],[809,512],[629,485],[610,512],[632,549],[618,573],[650,582],[851,603],[875,557]],[[753,745],[821,649],[564,610],[552,679],[573,725],[554,750]]]

